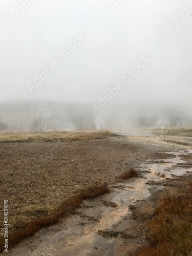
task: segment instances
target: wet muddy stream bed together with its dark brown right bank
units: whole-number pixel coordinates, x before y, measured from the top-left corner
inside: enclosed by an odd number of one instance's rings
[[[111,194],[86,200],[75,215],[19,244],[9,255],[131,255],[147,244],[146,221],[165,193],[175,195],[191,178],[191,151],[143,161],[139,178],[111,185]],[[182,168],[182,164],[188,167]],[[187,176],[182,176],[186,174]],[[180,177],[175,176],[180,175]],[[175,179],[174,179],[175,178]]]

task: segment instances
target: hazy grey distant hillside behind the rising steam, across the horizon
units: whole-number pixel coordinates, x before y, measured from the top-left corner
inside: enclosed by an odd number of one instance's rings
[[[30,122],[39,115],[45,117],[47,131],[192,125],[190,110],[161,102],[152,106],[150,102],[135,105],[110,102],[95,115],[91,104],[17,100],[0,103],[0,129],[2,122],[7,123],[9,130],[28,131]]]

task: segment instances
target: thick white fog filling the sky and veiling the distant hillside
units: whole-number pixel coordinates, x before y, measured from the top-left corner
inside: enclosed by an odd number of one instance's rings
[[[192,125],[189,0],[1,0],[0,130]]]

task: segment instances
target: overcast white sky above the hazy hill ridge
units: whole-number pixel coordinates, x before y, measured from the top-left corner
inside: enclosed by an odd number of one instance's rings
[[[180,32],[175,22],[192,1],[125,0],[113,10],[109,0],[36,0],[8,27],[20,1],[0,2],[0,101],[97,102],[140,55],[152,60],[116,100],[190,98],[192,15]],[[75,34],[86,39],[61,61],[57,53]],[[26,84],[53,60],[59,67],[30,94]]]

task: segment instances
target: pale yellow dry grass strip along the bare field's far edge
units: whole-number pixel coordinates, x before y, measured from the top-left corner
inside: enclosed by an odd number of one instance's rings
[[[75,132],[0,132],[0,143],[2,142],[40,142],[40,141],[69,141],[69,140],[88,140],[103,139],[108,136],[117,136],[108,131],[82,130]]]

